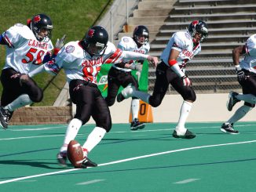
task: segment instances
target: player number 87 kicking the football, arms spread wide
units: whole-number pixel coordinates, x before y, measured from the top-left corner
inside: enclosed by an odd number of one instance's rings
[[[22,82],[42,71],[57,74],[63,68],[69,83],[71,101],[76,104],[75,117],[68,124],[57,161],[60,165],[66,165],[68,143],[75,139],[82,125],[86,124],[92,116],[96,127],[90,132],[83,144],[84,159],[81,168],[97,166],[87,158],[87,154],[101,142],[106,132],[112,128],[112,119],[108,104],[101,96],[97,87],[97,74],[103,63],[120,63],[121,60],[148,60],[157,63],[153,56],[122,51],[116,49],[112,42],[108,42],[108,32],[100,26],[90,27],[81,41],[68,42],[64,45],[57,57],[41,67],[22,75]]]

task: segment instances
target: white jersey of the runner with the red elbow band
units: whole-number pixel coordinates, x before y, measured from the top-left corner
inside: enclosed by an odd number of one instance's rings
[[[188,60],[192,60],[196,54],[201,52],[201,45],[200,43],[196,46],[193,45],[192,36],[188,31],[174,33],[161,55],[161,60],[163,60],[167,66],[169,66],[168,60],[171,49],[175,49],[180,52],[177,57],[177,63],[181,67],[181,70],[184,70]]]

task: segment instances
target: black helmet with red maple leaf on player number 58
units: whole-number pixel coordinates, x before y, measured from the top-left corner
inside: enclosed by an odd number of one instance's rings
[[[38,14],[33,16],[31,19],[30,27],[38,41],[49,41],[53,30],[52,20],[49,18],[49,16],[46,16],[45,14]],[[39,35],[41,29],[46,29],[48,31],[46,37],[41,37],[41,35]]]

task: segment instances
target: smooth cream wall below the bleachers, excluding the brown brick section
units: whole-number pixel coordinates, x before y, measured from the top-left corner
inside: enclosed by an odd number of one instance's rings
[[[192,110],[188,116],[188,122],[227,121],[243,102],[236,103],[233,110],[229,112],[226,101],[229,93],[198,94]],[[130,100],[115,103],[110,107],[113,123],[127,123],[130,114]],[[182,104],[180,95],[166,95],[163,103],[156,108],[152,107],[154,122],[177,122]],[[241,121],[256,121],[255,110],[251,110]],[[91,118],[89,123],[94,123]]]

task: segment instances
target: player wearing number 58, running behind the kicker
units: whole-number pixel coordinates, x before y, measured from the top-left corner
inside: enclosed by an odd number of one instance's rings
[[[5,66],[1,74],[0,126],[3,129],[7,129],[14,110],[42,100],[42,89],[33,79],[20,82],[20,78],[13,78],[13,75],[27,74],[57,55],[64,38],[62,42],[57,40],[52,54],[52,30],[49,16],[38,14],[27,20],[27,25],[15,24],[0,34],[0,44],[6,46]]]

